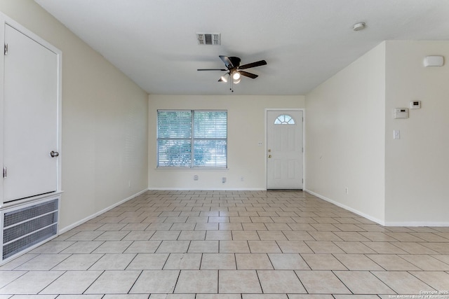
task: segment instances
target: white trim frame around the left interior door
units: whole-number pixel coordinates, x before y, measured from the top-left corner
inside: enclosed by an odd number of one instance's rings
[[[47,48],[48,50],[51,50],[53,53],[55,53],[55,55],[57,56],[58,59],[58,83],[57,83],[57,103],[58,103],[58,107],[57,107],[57,113],[58,113],[58,124],[56,127],[57,130],[57,138],[58,138],[58,148],[56,149],[56,151],[58,151],[60,154],[62,153],[62,51],[59,50],[58,48],[56,48],[55,46],[53,46],[51,43],[48,43],[48,41],[42,39],[41,37],[37,36],[36,34],[34,34],[33,32],[31,32],[30,30],[28,30],[27,28],[23,27],[22,25],[20,25],[18,22],[15,22],[15,20],[9,18],[7,15],[5,15],[4,13],[0,12],[0,44],[4,44],[5,43],[5,28],[6,25],[9,25],[11,27],[13,27],[14,29],[16,29],[18,32],[24,34],[25,36],[28,36],[29,39],[32,39],[33,41],[36,41],[36,43],[41,44],[41,46]],[[4,68],[5,68],[5,64],[4,64],[4,56],[1,57],[0,59],[0,116],[3,116],[4,114]],[[3,119],[3,118],[2,118]],[[4,123],[3,121],[0,121],[0,166],[1,169],[3,169],[4,167],[4,153],[3,153],[3,132],[4,132]],[[57,160],[57,174],[56,174],[56,192],[55,193],[51,193],[50,195],[55,195],[57,193],[62,193],[62,163],[61,163],[62,157],[60,155],[60,157],[58,157]],[[3,172],[3,171],[2,171]],[[3,188],[3,176],[2,179],[0,181],[0,190],[4,190]],[[34,200],[39,200],[42,197],[48,197],[49,195],[41,195],[41,196],[36,196],[36,197],[29,197],[27,199],[24,200],[17,200],[17,201],[13,201],[13,202],[7,202],[6,204],[4,204],[4,194],[3,192],[0,192],[0,207],[9,207],[11,205],[15,205],[15,204],[22,204],[25,202],[32,202]]]

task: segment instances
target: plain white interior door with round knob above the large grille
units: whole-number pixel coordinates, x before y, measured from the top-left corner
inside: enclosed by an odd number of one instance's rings
[[[4,202],[57,190],[58,55],[6,25]]]

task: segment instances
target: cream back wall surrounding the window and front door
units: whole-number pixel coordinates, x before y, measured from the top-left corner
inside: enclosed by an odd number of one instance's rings
[[[304,108],[304,97],[149,95],[149,188],[177,190],[266,189],[265,109],[268,108]],[[156,169],[158,109],[227,110],[228,169]],[[262,141],[262,146],[257,145],[259,141]],[[198,174],[198,181],[194,181],[194,174]],[[226,183],[222,183],[223,176],[227,177]],[[241,176],[243,176],[243,181],[241,181]]]

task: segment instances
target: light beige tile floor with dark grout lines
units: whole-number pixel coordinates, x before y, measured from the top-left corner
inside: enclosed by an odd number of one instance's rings
[[[148,191],[0,267],[0,299],[438,291],[449,291],[449,228],[382,227],[305,192]]]

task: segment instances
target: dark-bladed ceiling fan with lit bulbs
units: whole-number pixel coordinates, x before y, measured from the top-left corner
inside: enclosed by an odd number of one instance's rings
[[[231,78],[231,88],[229,88],[229,90],[231,90],[232,92],[234,92],[232,84],[238,84],[241,81],[241,76],[246,76],[252,79],[258,77],[256,74],[248,73],[248,71],[242,71],[242,69],[250,69],[251,67],[260,67],[261,65],[267,64],[265,60],[259,60],[257,62],[240,65],[241,60],[239,57],[227,57],[224,55],[220,55],[219,57],[222,62],[225,63],[227,69],[198,69],[198,71],[227,71],[226,74],[221,76],[218,82],[227,82],[229,78]]]

